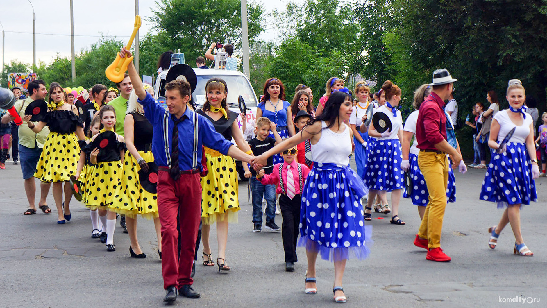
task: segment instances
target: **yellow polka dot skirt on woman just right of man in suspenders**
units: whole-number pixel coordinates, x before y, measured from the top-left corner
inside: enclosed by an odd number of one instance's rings
[[[237,223],[237,211],[240,210],[236,162],[226,155],[207,158],[209,173],[201,181],[201,222],[206,225],[218,220],[228,219]]]

